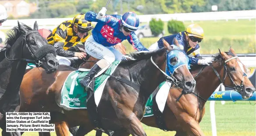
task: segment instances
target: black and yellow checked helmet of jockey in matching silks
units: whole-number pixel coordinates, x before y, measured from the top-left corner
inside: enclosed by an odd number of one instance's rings
[[[92,26],[92,23],[85,20],[85,14],[78,14],[74,17],[72,22],[75,27],[86,28]]]

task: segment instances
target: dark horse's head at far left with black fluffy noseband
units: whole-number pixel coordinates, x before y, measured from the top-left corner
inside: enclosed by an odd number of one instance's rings
[[[23,51],[26,52],[23,53],[23,57],[40,61],[39,66],[44,68],[47,73],[56,71],[58,65],[56,50],[39,34],[37,23],[34,23],[34,29],[32,30],[18,22],[18,29],[23,33],[23,42],[27,47],[23,47]]]

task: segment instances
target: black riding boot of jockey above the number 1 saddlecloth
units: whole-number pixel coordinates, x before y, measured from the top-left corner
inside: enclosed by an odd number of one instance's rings
[[[85,77],[80,81],[80,83],[87,87],[89,85],[89,83],[91,82],[92,78],[101,70],[101,68],[95,64],[91,70],[89,71],[89,73],[87,75],[85,75]]]

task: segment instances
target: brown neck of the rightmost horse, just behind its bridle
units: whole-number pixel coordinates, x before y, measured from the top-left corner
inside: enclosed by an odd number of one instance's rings
[[[220,79],[222,79],[224,66],[220,65],[220,66],[215,66],[214,68],[217,71],[217,73],[220,75]],[[213,71],[213,68],[208,66],[196,78],[196,93],[201,97],[203,97],[205,100],[207,100],[219,85],[220,85],[219,78]]]

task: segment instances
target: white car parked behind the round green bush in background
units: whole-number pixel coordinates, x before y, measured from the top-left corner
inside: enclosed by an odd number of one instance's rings
[[[149,24],[144,24],[140,26],[139,29],[135,31],[135,34],[139,39],[143,37],[154,37],[149,27]],[[164,35],[164,31],[161,34],[159,34],[158,37],[162,37],[163,35]]]

